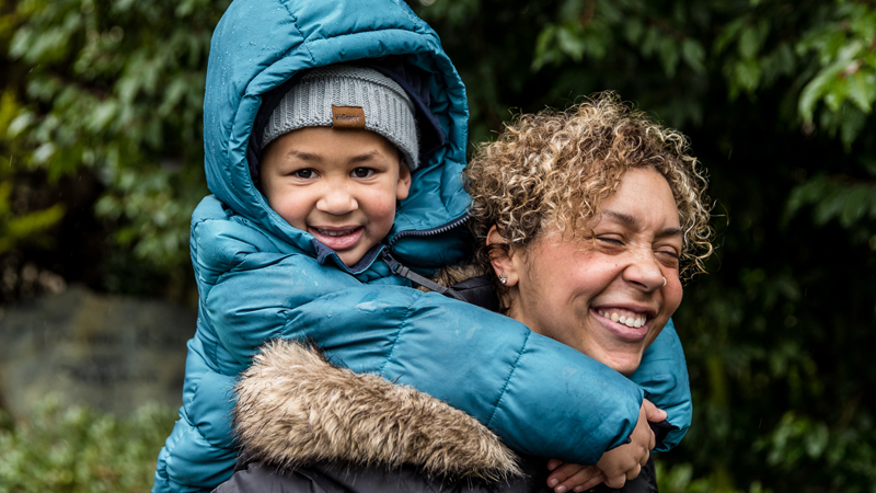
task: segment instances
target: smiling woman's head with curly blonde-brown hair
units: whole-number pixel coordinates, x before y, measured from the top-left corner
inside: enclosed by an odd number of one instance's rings
[[[525,115],[482,149],[465,174],[502,311],[632,375],[681,302],[681,276],[712,252],[705,180],[685,150],[612,94]]]

